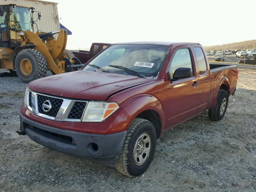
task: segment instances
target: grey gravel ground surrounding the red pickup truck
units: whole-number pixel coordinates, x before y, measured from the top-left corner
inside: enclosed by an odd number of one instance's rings
[[[0,191],[256,191],[256,67],[238,67],[239,89],[224,118],[212,122],[204,112],[164,133],[136,178],[18,136],[27,84],[0,77]]]

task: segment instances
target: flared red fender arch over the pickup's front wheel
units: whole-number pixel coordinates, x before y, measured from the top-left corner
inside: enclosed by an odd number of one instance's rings
[[[124,102],[121,107],[127,112],[127,114],[130,116],[129,123],[127,124],[127,129],[138,116],[143,111],[146,110],[154,110],[156,111],[161,119],[161,133],[164,128],[165,124],[165,113],[164,113],[164,108],[161,104],[161,102],[154,96],[149,95],[149,94],[140,94],[136,95]]]

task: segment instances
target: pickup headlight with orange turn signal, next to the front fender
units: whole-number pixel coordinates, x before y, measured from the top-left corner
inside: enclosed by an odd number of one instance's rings
[[[88,102],[82,121],[102,122],[119,108],[115,102]]]

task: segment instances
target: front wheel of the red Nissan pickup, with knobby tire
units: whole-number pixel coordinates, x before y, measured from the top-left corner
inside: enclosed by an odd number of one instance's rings
[[[153,160],[156,150],[156,130],[145,119],[135,118],[129,126],[116,169],[125,176],[140,176]]]

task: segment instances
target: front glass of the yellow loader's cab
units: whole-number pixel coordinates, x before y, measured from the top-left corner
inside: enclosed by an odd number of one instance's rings
[[[31,10],[25,7],[11,7],[10,28],[13,30],[30,31],[32,29]]]

